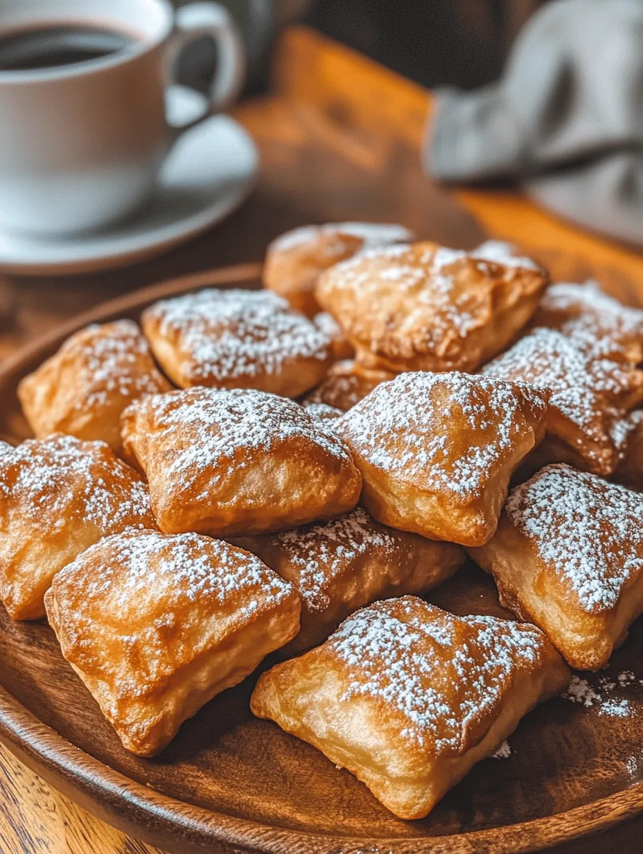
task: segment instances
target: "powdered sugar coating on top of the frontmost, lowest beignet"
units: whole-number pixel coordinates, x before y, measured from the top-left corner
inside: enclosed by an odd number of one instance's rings
[[[357,611],[327,646],[343,665],[342,699],[383,700],[406,722],[402,738],[439,755],[498,713],[517,674],[539,669],[546,643],[527,623],[455,617],[404,596]]]

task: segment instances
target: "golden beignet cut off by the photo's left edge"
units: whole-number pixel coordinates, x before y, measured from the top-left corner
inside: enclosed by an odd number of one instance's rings
[[[148,490],[104,442],[0,445],[0,599],[15,620],[44,617],[56,572],[129,527],[156,528]]]

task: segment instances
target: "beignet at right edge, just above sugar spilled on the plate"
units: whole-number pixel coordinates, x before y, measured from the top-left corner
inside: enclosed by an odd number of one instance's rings
[[[643,612],[643,496],[569,465],[512,490],[471,557],[500,602],[540,626],[572,667],[599,670]]]

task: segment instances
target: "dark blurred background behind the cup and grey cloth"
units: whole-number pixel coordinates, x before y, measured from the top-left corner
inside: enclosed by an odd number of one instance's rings
[[[473,89],[498,78],[517,32],[546,2],[225,0],[246,36],[249,86],[255,91],[266,80],[272,38],[292,20],[303,20],[425,86]],[[204,43],[194,51],[185,82],[206,85],[204,68],[212,66],[212,50]]]

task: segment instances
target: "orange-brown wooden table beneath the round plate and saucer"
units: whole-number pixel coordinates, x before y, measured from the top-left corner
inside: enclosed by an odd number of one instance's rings
[[[624,301],[643,296],[643,255],[593,237],[506,190],[447,193],[418,150],[430,110],[420,86],[303,28],[278,44],[272,94],[235,110],[260,147],[260,183],[216,231],[171,254],[79,278],[0,284],[0,359],[83,308],[187,272],[260,260],[281,231],[308,222],[401,222],[447,245],[493,235],[533,249],[555,278],[598,276]],[[636,284],[640,282],[640,288]],[[4,315],[3,315],[4,312]],[[643,822],[558,854],[640,851]],[[61,797],[0,747],[2,854],[151,854]],[[287,854],[287,852],[284,852]]]

